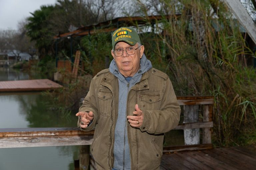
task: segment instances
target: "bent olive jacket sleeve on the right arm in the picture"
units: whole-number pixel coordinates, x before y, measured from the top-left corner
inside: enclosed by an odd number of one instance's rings
[[[162,97],[160,110],[142,110],[144,113],[142,132],[161,134],[175,128],[180,121],[180,105],[178,104],[172,83],[168,78]]]

